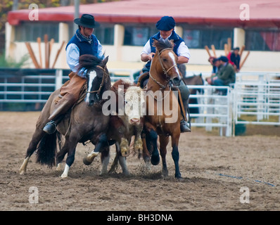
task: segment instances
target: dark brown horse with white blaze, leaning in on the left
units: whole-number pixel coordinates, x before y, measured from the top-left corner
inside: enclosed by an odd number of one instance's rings
[[[44,124],[48,122],[53,105],[59,98],[60,90],[51,94],[44,106],[39,119],[37,120],[36,130],[27,148],[25,160],[20,167],[20,174],[26,172],[27,163],[32,153],[37,150],[37,162],[42,165],[52,167],[60,165],[65,154],[68,153],[65,169],[61,177],[67,177],[70,166],[75,160],[75,150],[77,143],[91,141],[96,146],[96,151],[109,148],[106,132],[108,129],[109,117],[103,115],[101,96],[104,91],[111,87],[110,76],[106,68],[108,57],[100,60],[94,56],[84,55],[79,58],[79,69],[87,69],[87,90],[84,101],[75,105],[68,112],[63,121],[57,126],[57,131],[53,134],[46,134],[43,131]],[[57,137],[61,134],[65,136],[63,148],[56,155]]]

